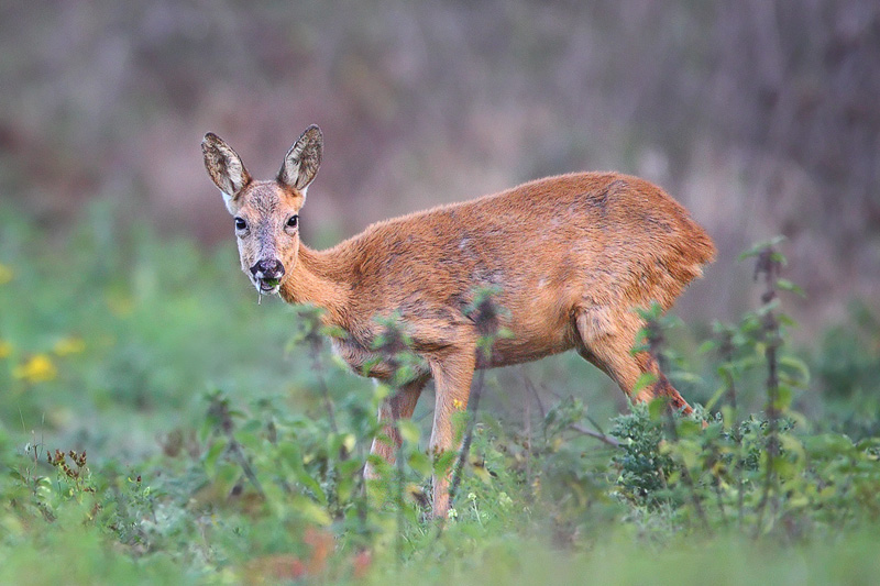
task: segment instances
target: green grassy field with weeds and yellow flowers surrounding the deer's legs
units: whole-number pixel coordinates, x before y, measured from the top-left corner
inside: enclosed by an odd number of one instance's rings
[[[231,243],[206,253],[106,202],[84,218],[0,208],[0,583],[880,575],[880,324],[864,306],[813,347],[790,342],[784,272],[738,323],[649,316],[705,429],[659,403],[622,411],[578,356],[487,373],[441,526],[430,390],[402,425],[404,465],[365,486],[393,389],[315,343],[312,310],[257,306]]]

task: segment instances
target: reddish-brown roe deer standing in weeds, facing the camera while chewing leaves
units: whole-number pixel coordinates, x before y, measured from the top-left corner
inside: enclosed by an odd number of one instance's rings
[[[323,137],[309,126],[278,175],[253,180],[216,134],[201,143],[205,166],[235,218],[241,267],[260,295],[324,309],[345,332],[334,350],[356,373],[388,380],[376,318],[398,316],[421,360],[414,377],[380,408],[384,439],[372,453],[388,462],[400,436],[394,421],[413,414],[429,378],[437,387],[430,449],[453,447],[451,416],[468,405],[475,368],[535,361],[575,349],[635,401],[666,396],[691,407],[648,353],[630,349],[642,325],[636,308],[668,309],[713,259],[712,240],[659,187],[617,173],[548,177],[472,201],[440,206],[369,226],[327,251],[299,241],[299,210],[321,163]],[[498,339],[487,360],[463,309],[481,287],[499,291]],[[634,396],[639,375],[654,383]],[[371,469],[364,471],[371,477]],[[449,477],[433,478],[433,515],[449,509]]]

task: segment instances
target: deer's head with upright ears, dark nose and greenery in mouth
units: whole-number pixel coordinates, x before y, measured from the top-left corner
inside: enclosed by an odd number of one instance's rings
[[[234,217],[241,268],[261,295],[278,292],[299,253],[299,210],[321,164],[323,137],[311,125],[294,143],[275,179],[251,178],[241,157],[217,134],[201,142],[205,167]]]

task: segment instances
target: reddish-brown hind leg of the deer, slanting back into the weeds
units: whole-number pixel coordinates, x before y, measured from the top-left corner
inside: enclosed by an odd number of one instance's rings
[[[583,343],[580,354],[610,376],[634,402],[668,397],[673,409],[681,409],[685,414],[693,411],[660,372],[653,356],[647,352],[634,356],[630,352],[642,325],[635,312],[592,306],[580,309],[575,321]],[[656,379],[634,395],[636,384],[645,373],[654,375]]]

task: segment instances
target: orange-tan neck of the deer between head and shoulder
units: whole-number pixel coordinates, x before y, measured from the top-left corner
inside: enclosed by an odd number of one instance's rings
[[[344,328],[349,290],[342,266],[329,251],[312,251],[300,244],[296,266],[279,292],[288,303],[322,308],[326,323]]]

